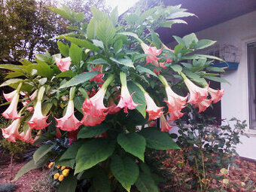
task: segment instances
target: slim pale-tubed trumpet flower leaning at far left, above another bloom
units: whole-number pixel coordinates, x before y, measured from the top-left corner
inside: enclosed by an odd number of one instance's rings
[[[17,113],[17,105],[19,102],[19,92],[16,90],[16,93],[14,94],[14,97],[11,101],[11,104],[9,107],[5,110],[5,112],[2,113],[2,115],[7,119],[17,119],[20,118],[20,114]]]

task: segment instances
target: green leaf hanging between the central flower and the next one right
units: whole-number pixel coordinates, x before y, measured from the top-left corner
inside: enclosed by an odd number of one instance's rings
[[[136,109],[142,114],[143,117],[146,117],[146,101],[145,96],[142,90],[134,84],[132,81],[127,82],[128,90],[133,93],[133,102],[139,104]]]

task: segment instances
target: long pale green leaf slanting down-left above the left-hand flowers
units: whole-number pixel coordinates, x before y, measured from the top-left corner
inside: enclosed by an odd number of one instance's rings
[[[89,81],[91,78],[94,78],[96,75],[98,75],[99,72],[85,72],[81,73],[79,75],[76,75],[71,80],[67,81],[65,84],[62,84],[62,86],[59,87],[59,89],[66,88],[66,87],[72,87],[78,84],[83,84],[86,81]]]

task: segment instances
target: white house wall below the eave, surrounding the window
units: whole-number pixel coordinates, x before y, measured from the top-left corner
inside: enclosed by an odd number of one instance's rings
[[[216,40],[219,44],[234,45],[242,50],[239,69],[223,76],[232,85],[221,84],[221,88],[224,88],[221,117],[237,117],[249,124],[247,44],[256,41],[256,11],[197,32],[197,38]],[[170,47],[173,48],[172,44]],[[242,136],[242,145],[237,147],[237,152],[242,157],[256,160],[256,134],[249,129],[247,132],[251,137]]]

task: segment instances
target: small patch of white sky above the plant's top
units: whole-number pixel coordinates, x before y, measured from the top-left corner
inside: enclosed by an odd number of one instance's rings
[[[133,7],[139,0],[105,0],[112,9],[118,6],[118,14],[123,14],[128,8]]]

